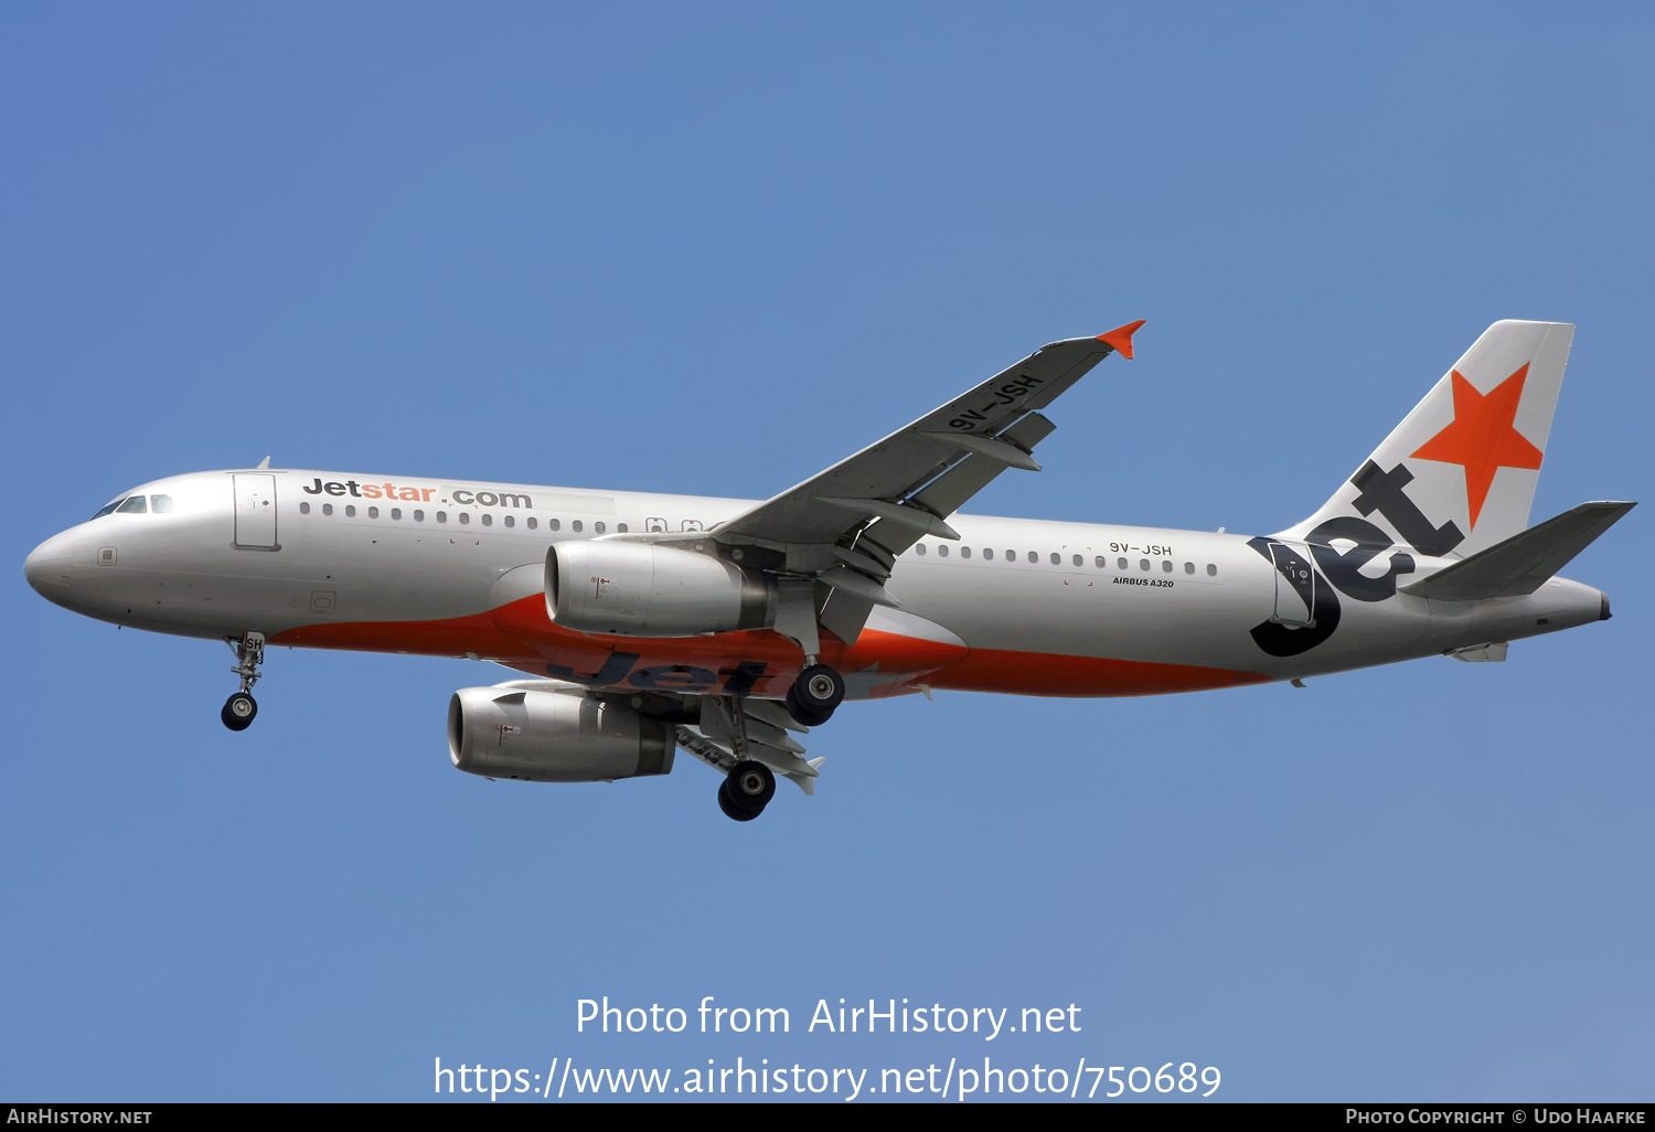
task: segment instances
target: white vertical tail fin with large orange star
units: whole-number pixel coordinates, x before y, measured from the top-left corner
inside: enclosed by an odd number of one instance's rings
[[[1334,496],[1278,538],[1466,558],[1526,530],[1572,339],[1569,323],[1490,326]]]

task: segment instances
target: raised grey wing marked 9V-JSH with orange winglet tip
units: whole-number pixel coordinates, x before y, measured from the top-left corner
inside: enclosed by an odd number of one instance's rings
[[[818,624],[854,644],[897,554],[922,536],[958,538],[947,518],[1006,468],[1039,472],[1039,414],[1112,353],[1132,357],[1144,319],[1043,346],[970,392],[710,531],[621,536],[707,543],[775,573],[776,631],[814,655]],[[743,549],[745,548],[745,549]]]

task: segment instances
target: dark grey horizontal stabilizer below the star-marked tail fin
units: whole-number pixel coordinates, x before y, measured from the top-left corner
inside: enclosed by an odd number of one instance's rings
[[[1400,592],[1432,601],[1533,594],[1633,506],[1637,503],[1582,503],[1423,581],[1402,586]]]

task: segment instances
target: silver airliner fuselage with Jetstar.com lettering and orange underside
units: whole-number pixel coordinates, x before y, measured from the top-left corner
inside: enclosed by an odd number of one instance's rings
[[[801,665],[798,647],[768,631],[640,642],[571,634],[546,616],[554,541],[708,530],[745,500],[298,470],[192,473],[127,496],[144,496],[144,511],[53,536],[30,554],[30,583],[76,612],[192,637],[257,631],[273,644],[473,655],[538,675],[634,657],[611,670],[614,687],[665,687],[672,667],[674,687],[710,690],[695,680],[718,684],[720,664],[758,657],[753,693],[780,695]],[[1314,569],[1307,601],[1278,564],[1293,544],[1271,551],[1264,538],[950,523],[960,541],[923,538],[900,554],[887,584],[899,609],[875,609],[839,650],[852,698],[920,684],[1135,695],[1283,680],[1554,632],[1607,607],[1561,578],[1476,602],[1352,599]],[[1448,561],[1418,558],[1413,576]],[[1286,644],[1266,649],[1259,634]]]

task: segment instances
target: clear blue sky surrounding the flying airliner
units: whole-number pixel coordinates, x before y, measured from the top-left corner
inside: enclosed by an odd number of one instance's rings
[[[20,566],[266,453],[766,496],[1135,318],[973,510],[1281,530],[1499,318],[1579,324],[1534,518],[1642,500],[1652,46],[1637,5],[7,7],[0,1094],[991,1056],[1648,1099],[1642,510],[1567,569],[1614,621],[1503,665],[852,705],[746,826],[687,756],[453,771],[477,664],[283,650],[232,735],[225,649]],[[602,995],[793,1033],[576,1033]],[[841,996],[1082,1029],[804,1033]]]

